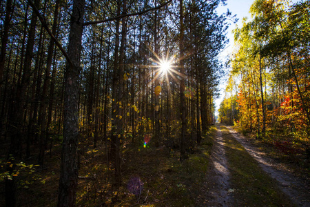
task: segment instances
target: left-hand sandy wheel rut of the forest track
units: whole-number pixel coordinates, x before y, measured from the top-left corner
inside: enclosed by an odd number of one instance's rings
[[[197,206],[233,206],[229,193],[229,170],[225,157],[225,142],[218,128],[210,157],[207,180]]]

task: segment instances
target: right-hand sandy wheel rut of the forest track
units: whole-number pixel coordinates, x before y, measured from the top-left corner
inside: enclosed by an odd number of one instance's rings
[[[290,172],[280,169],[281,164],[267,158],[263,152],[252,146],[244,136],[240,135],[231,127],[227,128],[229,128],[231,135],[242,144],[245,150],[258,161],[260,167],[273,179],[278,181],[278,186],[297,206],[310,206],[310,188],[307,181],[299,179]]]

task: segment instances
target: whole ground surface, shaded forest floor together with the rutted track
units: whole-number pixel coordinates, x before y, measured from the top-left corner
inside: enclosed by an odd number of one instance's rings
[[[309,169],[301,176],[304,166],[229,126],[213,126],[183,162],[171,143],[155,148],[152,140],[147,146],[125,140],[119,188],[104,142],[93,149],[92,137],[83,138],[76,206],[310,206]],[[59,143],[43,168],[21,172],[18,206],[56,206],[60,152]],[[3,182],[0,189],[1,206]]]

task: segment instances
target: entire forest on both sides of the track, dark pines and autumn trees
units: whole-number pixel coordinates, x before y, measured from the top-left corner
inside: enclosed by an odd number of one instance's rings
[[[225,2],[1,0],[0,203],[196,206],[227,67],[219,121],[309,155],[309,1],[254,1],[227,62]]]

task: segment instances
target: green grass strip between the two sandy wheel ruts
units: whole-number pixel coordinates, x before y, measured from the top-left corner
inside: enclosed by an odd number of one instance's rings
[[[234,139],[227,128],[222,127],[225,150],[234,189],[236,206],[293,206],[267,172]]]

